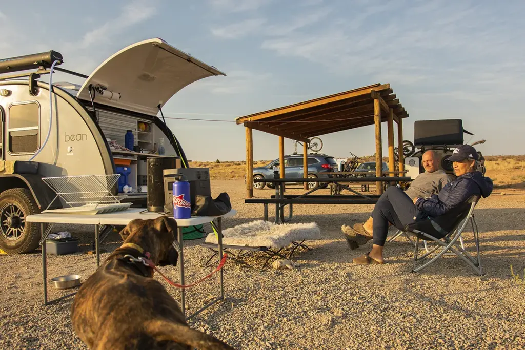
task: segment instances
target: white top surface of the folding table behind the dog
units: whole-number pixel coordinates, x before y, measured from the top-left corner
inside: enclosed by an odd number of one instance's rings
[[[45,224],[79,224],[79,225],[128,225],[134,219],[155,219],[164,214],[150,213],[144,211],[145,208],[131,208],[128,210],[117,211],[108,214],[66,214],[66,213],[44,213],[29,215],[26,217],[27,222],[41,222]],[[141,213],[144,211],[144,213]],[[220,217],[228,218],[235,216],[237,211],[232,209]],[[190,219],[176,219],[177,225],[182,227],[206,224],[217,216],[194,216]]]

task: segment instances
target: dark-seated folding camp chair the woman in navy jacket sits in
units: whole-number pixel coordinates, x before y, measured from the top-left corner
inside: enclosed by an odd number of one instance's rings
[[[432,264],[434,261],[439,259],[447,251],[456,254],[461,259],[465,260],[467,264],[476,271],[479,275],[484,274],[481,268],[481,258],[479,254],[479,231],[476,221],[474,220],[474,208],[479,201],[480,196],[475,195],[470,197],[464,206],[461,208],[451,210],[438,218],[433,220],[417,221],[413,224],[406,225],[403,229],[405,234],[411,234],[416,237],[415,248],[414,248],[414,269],[412,272],[418,272]],[[436,225],[436,221],[440,222]],[[468,222],[472,225],[472,232],[474,232],[474,243],[476,244],[477,256],[472,257],[463,246],[463,242],[458,244],[457,241],[460,239],[461,234],[465,230]],[[446,226],[446,227],[444,227]],[[423,256],[418,257],[419,253],[419,240],[433,241],[436,242],[436,247],[427,251]],[[442,250],[436,254],[435,257],[425,262],[421,266],[417,266],[418,262],[427,258],[436,251],[438,248]]]

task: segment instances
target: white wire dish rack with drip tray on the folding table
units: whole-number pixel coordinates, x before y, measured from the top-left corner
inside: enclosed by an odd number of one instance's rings
[[[52,209],[55,213],[84,211],[87,214],[102,214],[128,209],[131,203],[121,203],[127,196],[111,193],[119,177],[120,174],[44,177],[42,181],[54,190],[56,196],[43,213],[51,211],[49,208],[57,198],[68,207]]]

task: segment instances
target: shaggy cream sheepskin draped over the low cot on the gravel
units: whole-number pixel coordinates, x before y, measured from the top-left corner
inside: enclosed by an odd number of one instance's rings
[[[315,222],[277,225],[274,222],[257,220],[225,229],[223,236],[223,245],[280,249],[292,241],[319,239],[321,230]],[[215,232],[208,234],[206,243],[218,243]]]

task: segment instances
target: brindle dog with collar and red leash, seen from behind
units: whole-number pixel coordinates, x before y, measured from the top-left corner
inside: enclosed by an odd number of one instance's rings
[[[190,328],[178,304],[153,279],[153,269],[124,258],[145,257],[158,266],[177,264],[177,223],[166,216],[135,219],[121,232],[124,244],[82,284],[71,321],[90,349],[233,349]]]

